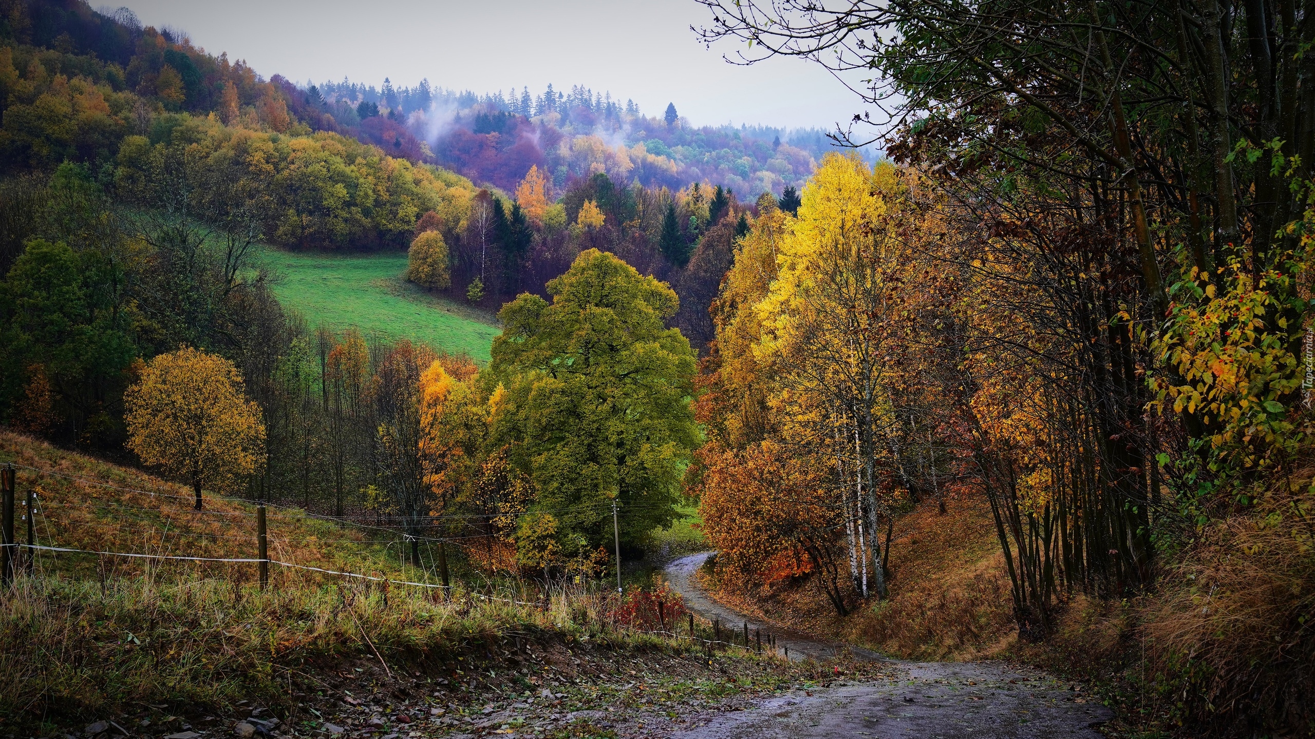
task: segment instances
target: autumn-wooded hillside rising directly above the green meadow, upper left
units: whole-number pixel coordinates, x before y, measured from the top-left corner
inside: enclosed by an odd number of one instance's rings
[[[299,247],[404,247],[421,214],[475,192],[335,133],[280,76],[143,29],[126,11],[103,16],[80,0],[0,0],[0,11],[7,172],[68,163],[120,201],[174,210],[185,193],[195,213]],[[0,234],[0,271],[36,233],[30,221]]]

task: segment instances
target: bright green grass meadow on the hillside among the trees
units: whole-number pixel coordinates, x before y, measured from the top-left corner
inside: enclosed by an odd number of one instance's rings
[[[312,327],[356,326],[410,339],[476,362],[489,359],[500,331],[488,313],[430,295],[404,279],[406,254],[322,254],[263,247],[256,258],[277,275],[274,293]]]

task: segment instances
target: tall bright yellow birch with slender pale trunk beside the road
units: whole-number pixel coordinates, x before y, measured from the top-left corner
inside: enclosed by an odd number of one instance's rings
[[[781,383],[822,398],[852,419],[867,530],[892,515],[878,496],[880,456],[899,459],[892,345],[898,339],[903,270],[910,245],[886,214],[901,205],[899,174],[876,171],[855,156],[828,155],[803,191],[798,222],[781,242],[781,268],[757,306],[764,338],[759,351],[777,356]],[[851,433],[844,437],[849,438]],[[886,594],[881,547],[873,543],[876,588]]]

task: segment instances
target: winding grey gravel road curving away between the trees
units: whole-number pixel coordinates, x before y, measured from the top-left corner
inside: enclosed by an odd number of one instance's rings
[[[896,738],[1028,738],[1101,736],[1095,726],[1112,715],[1094,697],[1053,676],[1003,663],[909,663],[886,660],[869,650],[813,639],[772,623],[751,619],[713,601],[693,579],[713,552],[680,558],[665,567],[685,605],[729,627],[763,629],[789,647],[792,660],[825,660],[849,654],[890,665],[889,680],[849,682],[828,689],[789,693],[761,701],[751,710],[721,714],[704,726],[677,734],[686,739],[785,739],[823,736]],[[1091,701],[1091,702],[1088,702]]]

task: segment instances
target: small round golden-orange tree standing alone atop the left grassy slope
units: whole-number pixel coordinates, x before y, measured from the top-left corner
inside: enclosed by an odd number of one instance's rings
[[[264,423],[222,356],[191,347],[160,354],[124,394],[128,448],[192,485],[225,484],[264,464]]]

